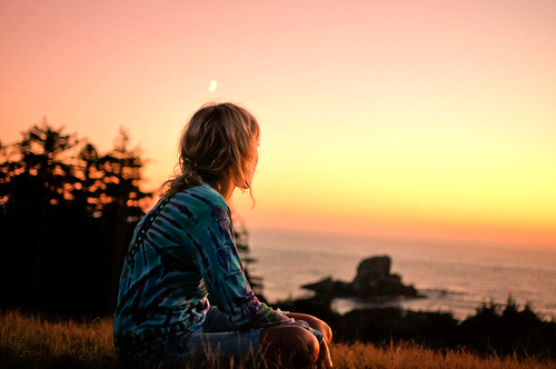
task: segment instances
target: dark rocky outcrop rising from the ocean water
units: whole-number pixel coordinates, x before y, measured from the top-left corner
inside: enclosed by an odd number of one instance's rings
[[[413,286],[406,286],[401,282],[400,276],[390,273],[390,257],[370,257],[359,263],[357,276],[351,282],[326,278],[319,282],[301,287],[315,291],[317,296],[329,299],[350,297],[374,300],[388,297],[419,297]]]

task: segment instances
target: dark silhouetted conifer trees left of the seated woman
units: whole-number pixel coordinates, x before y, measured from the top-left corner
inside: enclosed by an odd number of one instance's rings
[[[107,153],[46,119],[0,143],[0,306],[111,311],[143,163],[122,129]]]

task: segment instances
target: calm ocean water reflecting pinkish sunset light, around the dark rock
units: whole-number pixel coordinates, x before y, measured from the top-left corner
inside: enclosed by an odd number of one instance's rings
[[[461,240],[386,238],[286,229],[249,229],[251,275],[261,277],[270,303],[311,296],[300,288],[331,277],[351,281],[368,257],[387,255],[391,273],[413,285],[424,299],[381,305],[338,299],[340,313],[364,307],[398,306],[415,311],[474,315],[484,302],[523,309],[528,303],[543,319],[556,320],[556,246]]]

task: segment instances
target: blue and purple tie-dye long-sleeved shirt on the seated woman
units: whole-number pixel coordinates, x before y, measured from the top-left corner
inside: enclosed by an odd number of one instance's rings
[[[159,201],[137,226],[120,279],[116,347],[128,351],[199,329],[210,303],[237,330],[292,322],[251,291],[230,209],[203,183]]]

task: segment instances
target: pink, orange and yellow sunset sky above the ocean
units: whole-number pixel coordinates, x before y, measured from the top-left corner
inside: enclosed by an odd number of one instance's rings
[[[0,0],[0,38],[2,143],[125,127],[153,190],[240,102],[247,227],[556,245],[556,1]]]

